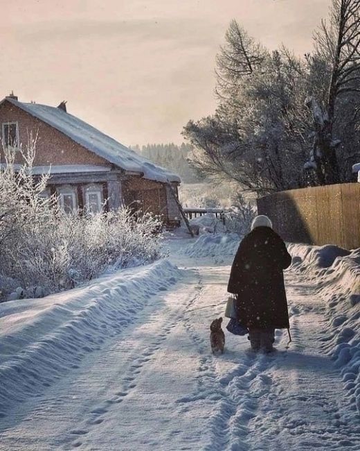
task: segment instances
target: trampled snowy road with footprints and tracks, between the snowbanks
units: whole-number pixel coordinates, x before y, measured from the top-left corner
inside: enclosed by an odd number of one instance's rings
[[[126,327],[3,412],[0,449],[359,451],[356,403],[328,354],[323,279],[287,272],[289,350],[286,331],[271,355],[226,332],[226,352],[214,357],[208,326],[223,315],[231,258],[171,247],[178,281],[153,289]]]

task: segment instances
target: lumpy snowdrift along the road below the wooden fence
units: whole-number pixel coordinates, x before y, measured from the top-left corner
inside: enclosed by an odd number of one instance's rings
[[[323,349],[340,368],[350,408],[360,413],[360,249],[290,244],[292,269],[318,285],[327,330]]]

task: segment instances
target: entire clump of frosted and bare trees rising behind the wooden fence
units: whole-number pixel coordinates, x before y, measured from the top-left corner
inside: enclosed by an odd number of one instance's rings
[[[215,114],[183,130],[197,170],[258,194],[350,181],[360,158],[359,11],[360,0],[333,0],[305,58],[268,51],[231,22]]]

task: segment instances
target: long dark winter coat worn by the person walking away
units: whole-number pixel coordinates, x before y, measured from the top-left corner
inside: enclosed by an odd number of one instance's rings
[[[291,264],[284,241],[257,227],[241,241],[231,266],[228,292],[237,294],[237,318],[246,327],[289,327],[282,270]]]

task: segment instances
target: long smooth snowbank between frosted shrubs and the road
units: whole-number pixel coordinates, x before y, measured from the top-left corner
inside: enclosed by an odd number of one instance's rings
[[[89,287],[0,304],[0,418],[50,386],[105,337],[119,334],[151,296],[181,277],[167,260],[99,278]]]

